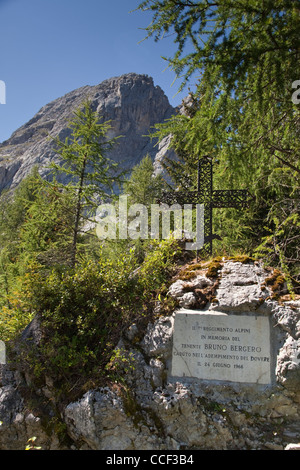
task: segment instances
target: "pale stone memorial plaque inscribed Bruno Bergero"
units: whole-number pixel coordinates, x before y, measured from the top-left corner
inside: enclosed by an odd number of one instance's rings
[[[171,375],[203,380],[271,383],[268,317],[179,310]]]

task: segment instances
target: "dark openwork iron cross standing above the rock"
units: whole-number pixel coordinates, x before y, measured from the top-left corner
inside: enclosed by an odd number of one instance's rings
[[[213,240],[221,239],[213,234],[212,220],[213,209],[247,207],[251,196],[247,189],[213,189],[213,164],[208,156],[202,157],[198,161],[198,182],[197,191],[170,191],[164,192],[160,197],[160,202],[166,204],[204,204],[204,246],[202,251],[212,254]],[[198,250],[197,250],[198,257]]]

